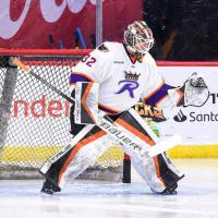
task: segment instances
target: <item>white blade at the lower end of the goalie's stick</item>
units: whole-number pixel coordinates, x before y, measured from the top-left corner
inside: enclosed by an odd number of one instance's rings
[[[153,147],[150,147],[150,149],[148,150],[148,156],[155,157],[181,143],[182,143],[181,135],[179,134],[172,135],[171,137],[168,137],[165,141],[161,141],[156,145],[154,145]]]

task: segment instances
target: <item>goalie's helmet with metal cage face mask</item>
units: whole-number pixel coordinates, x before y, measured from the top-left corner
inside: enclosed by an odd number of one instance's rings
[[[135,21],[124,31],[123,43],[134,55],[145,55],[154,45],[152,29],[144,21]]]

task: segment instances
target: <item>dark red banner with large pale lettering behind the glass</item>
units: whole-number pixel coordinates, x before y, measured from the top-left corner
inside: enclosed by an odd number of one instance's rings
[[[104,40],[121,40],[142,19],[141,0],[104,0]],[[80,27],[87,48],[96,33],[96,0],[5,0],[0,2],[0,48],[74,48]],[[52,36],[52,39],[51,39]]]

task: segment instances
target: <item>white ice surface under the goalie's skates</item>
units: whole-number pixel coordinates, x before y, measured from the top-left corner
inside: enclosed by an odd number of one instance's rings
[[[0,218],[218,217],[218,159],[174,160],[185,173],[178,195],[153,194],[133,172],[131,184],[74,181],[41,195],[41,180],[1,180]]]

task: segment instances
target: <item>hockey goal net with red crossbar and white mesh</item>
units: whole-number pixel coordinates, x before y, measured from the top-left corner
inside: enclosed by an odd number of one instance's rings
[[[0,178],[40,178],[38,169],[66,146],[70,104],[48,86],[17,68],[11,57],[40,77],[69,93],[69,76],[87,50],[1,50],[0,58]],[[109,148],[81,175],[83,179],[122,181],[121,147]]]

